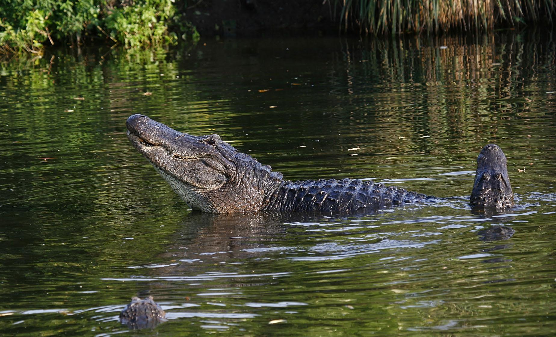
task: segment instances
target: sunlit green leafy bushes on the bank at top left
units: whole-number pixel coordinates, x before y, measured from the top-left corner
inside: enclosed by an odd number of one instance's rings
[[[110,38],[126,47],[175,43],[172,0],[0,0],[0,52]]]

